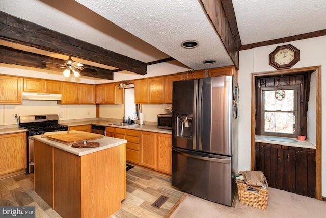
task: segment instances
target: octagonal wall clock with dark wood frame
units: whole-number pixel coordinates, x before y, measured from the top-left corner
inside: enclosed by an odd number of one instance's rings
[[[289,69],[300,61],[300,50],[293,45],[282,45],[269,54],[269,65],[276,69]]]

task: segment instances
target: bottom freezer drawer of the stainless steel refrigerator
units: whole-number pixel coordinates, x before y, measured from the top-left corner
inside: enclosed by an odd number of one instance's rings
[[[200,198],[232,206],[235,189],[231,163],[232,157],[173,148],[172,186]]]

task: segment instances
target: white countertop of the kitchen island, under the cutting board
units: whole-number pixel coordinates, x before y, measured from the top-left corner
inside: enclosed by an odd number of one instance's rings
[[[41,141],[43,143],[46,143],[50,146],[53,146],[55,148],[64,150],[66,152],[78,155],[78,156],[83,156],[86,154],[90,154],[93,152],[97,152],[97,151],[101,151],[104,149],[108,149],[108,148],[112,148],[115,146],[120,146],[120,144],[124,144],[127,143],[127,140],[125,139],[120,139],[120,138],[112,138],[112,137],[106,137],[104,136],[103,138],[100,139],[96,139],[96,140],[92,140],[92,142],[99,142],[100,146],[99,147],[95,147],[95,148],[73,148],[71,147],[71,145],[67,145],[64,143],[60,143],[57,141],[53,141],[53,140],[49,140],[46,137],[42,138],[42,135],[36,135],[36,136],[32,136],[34,138],[34,140],[38,140]]]

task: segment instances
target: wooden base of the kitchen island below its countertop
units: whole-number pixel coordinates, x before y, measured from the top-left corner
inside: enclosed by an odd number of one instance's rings
[[[52,170],[53,182],[50,173],[46,174],[48,178],[35,174],[35,181],[43,180],[35,183],[35,191],[39,194],[44,192],[40,189],[48,189],[45,192],[49,196],[52,191],[53,203],[49,205],[60,216],[110,217],[121,208],[121,201],[126,198],[125,144],[77,156],[36,142],[35,151],[39,144],[53,149],[52,165],[46,158],[43,161],[47,166],[40,166],[40,161],[35,163],[35,172],[43,167],[48,167],[48,172]],[[37,187],[45,181],[52,184],[52,188]],[[44,195],[40,197],[44,199]]]

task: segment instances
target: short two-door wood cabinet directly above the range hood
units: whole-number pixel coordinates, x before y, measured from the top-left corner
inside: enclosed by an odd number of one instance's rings
[[[24,78],[24,92],[61,94],[60,81]]]

